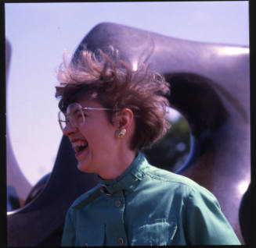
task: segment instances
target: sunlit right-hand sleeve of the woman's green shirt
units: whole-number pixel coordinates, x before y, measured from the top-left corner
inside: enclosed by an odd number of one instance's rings
[[[240,245],[218,200],[203,187],[186,200],[186,236],[191,245]]]

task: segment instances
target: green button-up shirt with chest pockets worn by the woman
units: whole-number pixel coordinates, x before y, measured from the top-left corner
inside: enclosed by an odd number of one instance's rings
[[[239,245],[215,196],[139,153],[117,179],[78,197],[62,246]]]

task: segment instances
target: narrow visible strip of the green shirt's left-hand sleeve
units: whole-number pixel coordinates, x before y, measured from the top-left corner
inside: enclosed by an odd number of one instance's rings
[[[74,224],[70,216],[70,211],[67,211],[64,229],[63,229],[63,236],[61,240],[61,246],[74,246],[74,242],[75,242]]]

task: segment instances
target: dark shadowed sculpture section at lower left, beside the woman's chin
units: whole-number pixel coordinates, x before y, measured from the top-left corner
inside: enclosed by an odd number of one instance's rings
[[[8,213],[8,246],[37,246],[62,227],[67,208],[96,185],[96,175],[78,171],[74,151],[66,136],[59,146],[56,163],[45,188],[29,204]],[[60,236],[51,239],[58,246]]]

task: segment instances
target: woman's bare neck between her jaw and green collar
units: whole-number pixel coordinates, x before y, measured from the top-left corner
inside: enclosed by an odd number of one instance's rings
[[[117,179],[134,161],[137,151],[125,151],[118,153],[112,165],[106,166],[106,170],[99,172],[102,179]]]

